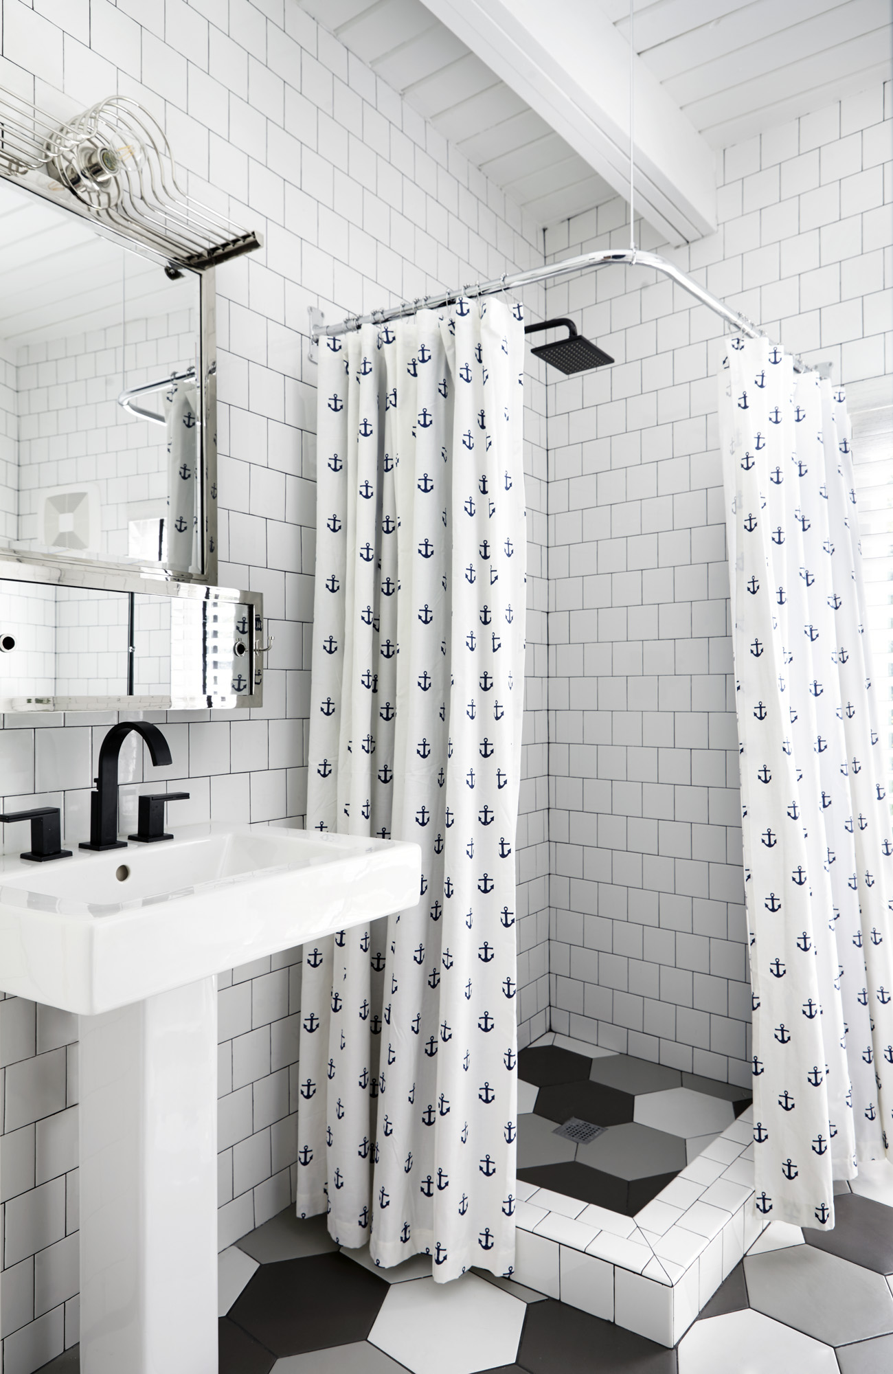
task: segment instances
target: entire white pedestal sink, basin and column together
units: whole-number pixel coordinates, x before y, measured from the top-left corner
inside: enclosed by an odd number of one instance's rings
[[[0,988],[81,1015],[81,1371],[217,1371],[214,973],[418,900],[418,845],[190,826],[0,860]]]

